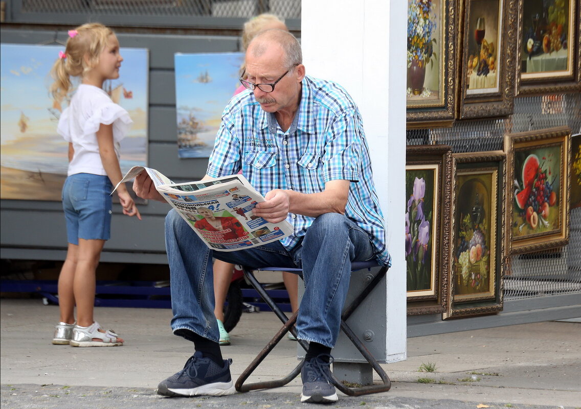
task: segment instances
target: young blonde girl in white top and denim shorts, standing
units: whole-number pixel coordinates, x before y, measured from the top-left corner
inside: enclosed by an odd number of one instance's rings
[[[60,323],[52,340],[56,345],[123,345],[119,335],[103,330],[93,318],[95,270],[110,237],[109,194],[122,178],[119,142],[132,123],[127,111],[102,89],[105,80],[119,78],[121,61],[113,31],[91,23],[69,31],[66,50],[52,67],[51,92],[57,104],[71,91],[70,77],[79,77],[81,82],[60,115],[57,129],[69,142],[69,171],[62,195],[69,247],[59,276]],[[124,184],[117,194],[123,214],[141,220]]]

